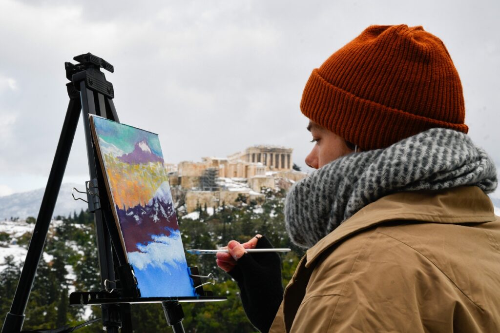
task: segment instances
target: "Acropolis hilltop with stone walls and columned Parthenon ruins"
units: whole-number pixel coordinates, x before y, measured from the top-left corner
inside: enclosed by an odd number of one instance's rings
[[[170,186],[185,193],[186,211],[199,206],[216,208],[246,200],[262,201],[263,188],[287,188],[307,174],[292,169],[292,149],[259,145],[227,157],[203,157],[201,162],[165,164]]]

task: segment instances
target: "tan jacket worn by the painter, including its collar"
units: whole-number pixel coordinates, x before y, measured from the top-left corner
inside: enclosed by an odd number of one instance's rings
[[[474,186],[403,192],[307,250],[269,332],[500,332],[500,220]]]

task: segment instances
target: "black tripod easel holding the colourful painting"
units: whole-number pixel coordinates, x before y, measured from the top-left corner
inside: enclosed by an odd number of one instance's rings
[[[26,309],[31,286],[40,261],[50,219],[52,217],[57,195],[66,168],[69,152],[76,131],[80,110],[82,110],[85,142],[88,158],[90,181],[86,182],[86,193],[89,212],[94,213],[97,252],[101,273],[102,289],[106,292],[72,293],[71,305],[100,305],[102,310],[102,327],[107,332],[131,333],[130,303],[161,303],[167,324],[174,332],[184,332],[182,327],[183,312],[178,301],[224,300],[225,297],[208,297],[202,289],[196,288],[198,297],[186,298],[140,298],[131,266],[126,263],[121,249],[118,231],[110,211],[110,204],[105,190],[99,195],[99,188],[104,189],[104,179],[96,150],[93,147],[89,114],[118,121],[112,98],[113,86],[106,81],[100,68],[113,72],[113,66],[102,58],[91,53],[75,56],[76,65],[66,62],[66,77],[71,81],[66,84],[69,104],[62,125],[59,142],[48,176],[47,186],[43,194],[33,235],[21,275],[17,283],[10,312],[7,313],[1,333],[17,333],[22,329],[24,311]],[[191,268],[193,270],[193,268]],[[196,274],[192,272],[191,274]],[[117,275],[117,276],[116,276]],[[195,278],[193,277],[193,280]],[[115,290],[107,292],[109,289]]]

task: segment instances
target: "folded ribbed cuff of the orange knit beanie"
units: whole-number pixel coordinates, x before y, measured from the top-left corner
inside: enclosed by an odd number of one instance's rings
[[[360,98],[327,82],[317,69],[305,85],[300,110],[362,150],[387,147],[434,127],[468,131],[463,123],[431,119]]]

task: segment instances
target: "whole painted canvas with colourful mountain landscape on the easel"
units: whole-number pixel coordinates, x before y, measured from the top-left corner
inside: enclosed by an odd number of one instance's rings
[[[195,296],[158,135],[97,116],[90,125],[141,297]]]

